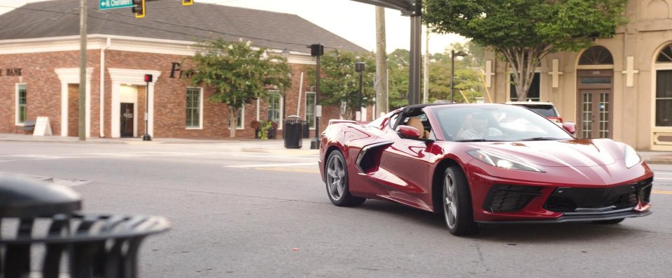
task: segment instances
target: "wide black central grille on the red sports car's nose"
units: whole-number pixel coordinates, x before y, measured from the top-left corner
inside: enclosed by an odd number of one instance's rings
[[[546,200],[552,212],[605,212],[649,202],[652,179],[606,189],[559,187]]]

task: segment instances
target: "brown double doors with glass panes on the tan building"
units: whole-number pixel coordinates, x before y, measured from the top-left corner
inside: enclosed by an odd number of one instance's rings
[[[577,71],[577,136],[612,137],[613,71]]]

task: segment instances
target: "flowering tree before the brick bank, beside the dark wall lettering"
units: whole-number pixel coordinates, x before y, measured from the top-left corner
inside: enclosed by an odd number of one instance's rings
[[[202,51],[190,58],[191,83],[213,88],[210,101],[227,105],[232,138],[236,137],[236,115],[244,104],[267,97],[270,88],[283,92],[291,85],[287,60],[269,55],[263,47],[252,47],[249,41],[216,39],[199,46]]]

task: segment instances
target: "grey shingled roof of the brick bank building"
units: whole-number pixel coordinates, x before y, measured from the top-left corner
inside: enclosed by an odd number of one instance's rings
[[[176,41],[252,41],[253,45],[309,52],[307,45],[353,52],[367,50],[297,15],[264,10],[174,1],[149,1],[146,17],[137,19],[130,8],[99,10],[98,0],[88,0],[87,33]],[[79,1],[29,3],[0,15],[0,40],[76,36],[79,34]]]

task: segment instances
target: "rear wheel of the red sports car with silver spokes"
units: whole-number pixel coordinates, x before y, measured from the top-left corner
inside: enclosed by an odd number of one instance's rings
[[[366,198],[352,196],[348,179],[348,166],[340,151],[329,154],[324,165],[325,186],[331,203],[339,207],[362,205]]]

